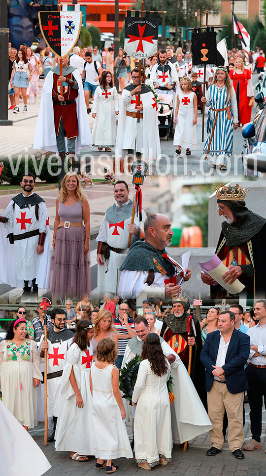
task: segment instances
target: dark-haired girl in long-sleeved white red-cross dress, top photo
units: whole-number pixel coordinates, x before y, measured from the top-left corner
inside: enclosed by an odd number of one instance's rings
[[[110,71],[103,71],[100,86],[94,93],[92,117],[96,119],[93,130],[93,146],[106,152],[115,146],[115,116],[119,113],[119,100],[116,87],[113,86],[113,76]]]

